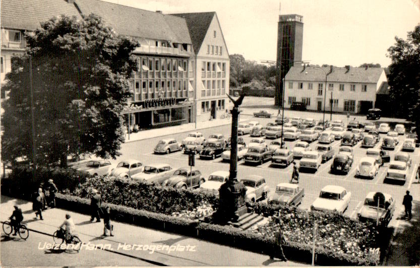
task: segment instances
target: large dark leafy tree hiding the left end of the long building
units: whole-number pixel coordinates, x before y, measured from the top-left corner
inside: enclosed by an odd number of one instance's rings
[[[68,155],[81,153],[119,155],[138,42],[118,36],[93,14],[52,18],[25,38],[26,53],[7,75],[2,159],[32,159],[30,69],[38,165],[66,166]]]

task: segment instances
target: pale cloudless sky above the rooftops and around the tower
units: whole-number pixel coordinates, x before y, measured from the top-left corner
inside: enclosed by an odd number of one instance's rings
[[[391,61],[395,36],[420,22],[420,0],[105,0],[164,14],[215,11],[229,55],[275,61],[278,15],[304,17],[302,59],[338,67]],[[280,4],[281,2],[281,4]]]

